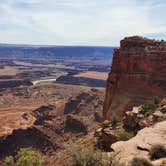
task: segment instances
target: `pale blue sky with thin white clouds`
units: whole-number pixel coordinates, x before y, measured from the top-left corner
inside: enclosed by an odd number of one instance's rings
[[[0,0],[0,43],[118,46],[166,40],[166,0]]]

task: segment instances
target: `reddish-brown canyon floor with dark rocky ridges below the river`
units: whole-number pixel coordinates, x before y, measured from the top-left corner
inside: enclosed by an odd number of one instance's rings
[[[103,100],[104,88],[86,86],[45,83],[3,89],[0,164],[6,156],[16,156],[20,148],[33,148],[46,165],[56,166],[56,155],[65,154],[66,144],[83,139],[97,127]],[[63,158],[60,162],[63,165]]]

